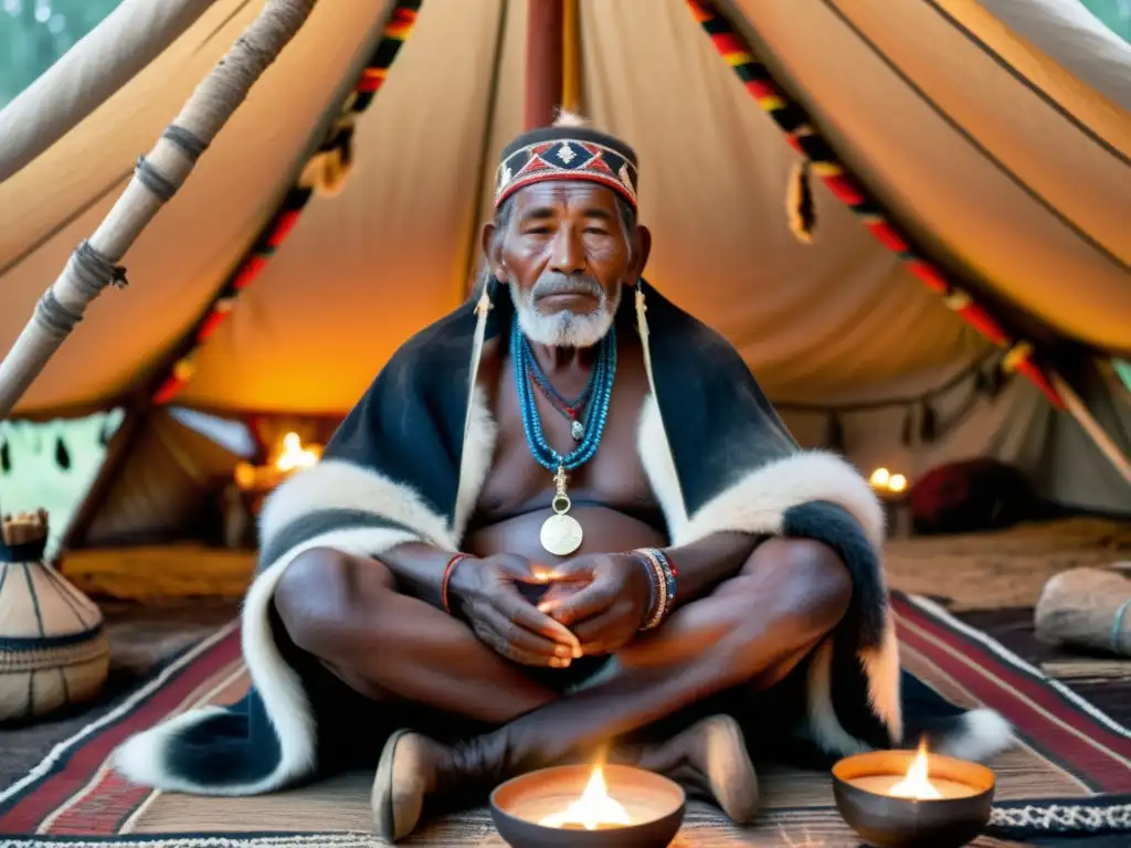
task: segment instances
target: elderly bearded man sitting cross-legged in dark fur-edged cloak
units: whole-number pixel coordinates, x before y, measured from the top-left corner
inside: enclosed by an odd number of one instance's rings
[[[425,801],[598,758],[745,822],[748,744],[917,741],[881,510],[644,283],[632,149],[536,130],[495,197],[477,302],[408,340],[264,510],[248,698],[135,737],[119,768],[252,794],[368,762],[399,839]],[[984,712],[930,729],[967,756],[1008,735]]]

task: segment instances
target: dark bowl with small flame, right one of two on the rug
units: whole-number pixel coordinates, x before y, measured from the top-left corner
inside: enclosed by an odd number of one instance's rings
[[[881,848],[958,848],[990,821],[994,773],[984,765],[918,751],[873,751],[832,767],[837,810]]]

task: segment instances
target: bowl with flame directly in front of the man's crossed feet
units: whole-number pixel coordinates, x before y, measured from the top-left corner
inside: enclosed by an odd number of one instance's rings
[[[501,784],[491,817],[512,848],[664,848],[683,824],[679,784],[628,765],[559,765]]]

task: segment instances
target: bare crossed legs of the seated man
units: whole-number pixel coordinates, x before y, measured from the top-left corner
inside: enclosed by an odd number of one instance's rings
[[[275,604],[295,644],[362,694],[497,728],[452,746],[418,741],[403,749],[412,773],[390,778],[399,802],[385,799],[399,803],[399,820],[385,824],[399,837],[415,827],[423,796],[449,784],[490,786],[589,756],[713,695],[772,686],[840,621],[851,595],[847,569],[830,548],[769,539],[739,574],[622,650],[610,680],[569,695],[532,680],[461,622],[397,592],[389,570],[372,560],[308,552],[290,566]],[[388,770],[395,750],[387,753]],[[622,755],[664,770],[672,750]],[[406,806],[405,793],[418,797]]]

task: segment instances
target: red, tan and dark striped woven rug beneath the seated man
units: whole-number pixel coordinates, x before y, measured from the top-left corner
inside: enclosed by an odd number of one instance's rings
[[[903,595],[893,603],[908,670],[956,703],[999,710],[1020,738],[991,763],[996,808],[988,834],[975,845],[1031,838],[1048,845],[1121,830],[1114,839],[1128,839],[1131,733],[933,603]],[[247,686],[231,624],[0,790],[0,834],[10,834],[0,837],[0,847],[382,845],[370,832],[369,773],[256,798],[199,798],[135,787],[106,768],[111,751],[130,734],[193,707],[231,703]],[[766,810],[756,827],[734,828],[714,808],[691,804],[674,846],[858,845],[836,812],[827,772],[766,768],[760,776]],[[503,845],[485,810],[437,821],[407,843]]]

